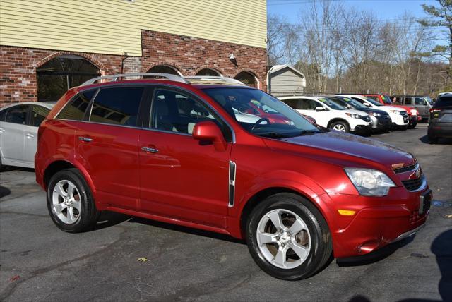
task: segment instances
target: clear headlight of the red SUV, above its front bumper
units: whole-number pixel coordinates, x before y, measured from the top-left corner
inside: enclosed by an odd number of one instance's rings
[[[384,196],[396,184],[381,171],[363,168],[345,168],[345,173],[360,195]]]

